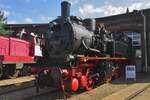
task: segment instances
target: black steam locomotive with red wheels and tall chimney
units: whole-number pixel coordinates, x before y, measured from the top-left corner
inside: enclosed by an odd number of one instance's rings
[[[49,23],[42,48],[37,90],[53,86],[62,90],[91,90],[119,77],[132,58],[131,39],[96,27],[94,19],[70,16],[71,4],[61,3],[61,16]]]

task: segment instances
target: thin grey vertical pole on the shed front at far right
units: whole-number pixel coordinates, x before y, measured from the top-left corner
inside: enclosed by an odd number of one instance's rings
[[[143,20],[144,20],[144,56],[145,56],[145,62],[144,62],[144,65],[145,65],[145,71],[148,72],[148,64],[147,64],[147,38],[146,38],[146,16],[144,15],[143,11],[141,11],[141,15],[143,17]]]

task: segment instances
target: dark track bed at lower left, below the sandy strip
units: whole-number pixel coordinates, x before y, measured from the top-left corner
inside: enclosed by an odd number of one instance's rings
[[[0,88],[0,100],[36,100],[35,98],[47,97],[47,95],[58,94],[57,89],[45,88],[36,92],[34,82],[21,84],[19,86],[7,86]],[[41,100],[41,99],[39,99]],[[45,100],[45,99],[43,99]]]

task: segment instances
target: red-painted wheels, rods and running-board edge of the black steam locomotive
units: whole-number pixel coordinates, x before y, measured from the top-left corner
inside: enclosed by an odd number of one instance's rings
[[[117,57],[78,57],[77,65],[71,67],[71,70],[62,69],[62,89],[71,89],[71,91],[76,92],[79,87],[82,87],[88,91],[94,88],[94,78],[91,73],[91,69],[94,67],[94,61],[126,61],[127,58],[117,58]],[[106,82],[111,83],[112,78],[118,77],[120,75],[120,67],[113,67],[111,73],[106,76]],[[67,76],[67,77],[66,77]],[[71,84],[71,85],[70,85]]]

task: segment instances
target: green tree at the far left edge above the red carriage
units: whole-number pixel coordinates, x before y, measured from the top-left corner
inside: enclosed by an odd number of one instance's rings
[[[7,17],[4,15],[4,11],[0,10],[0,35],[10,35],[12,32],[5,29],[5,24],[7,23]]]

